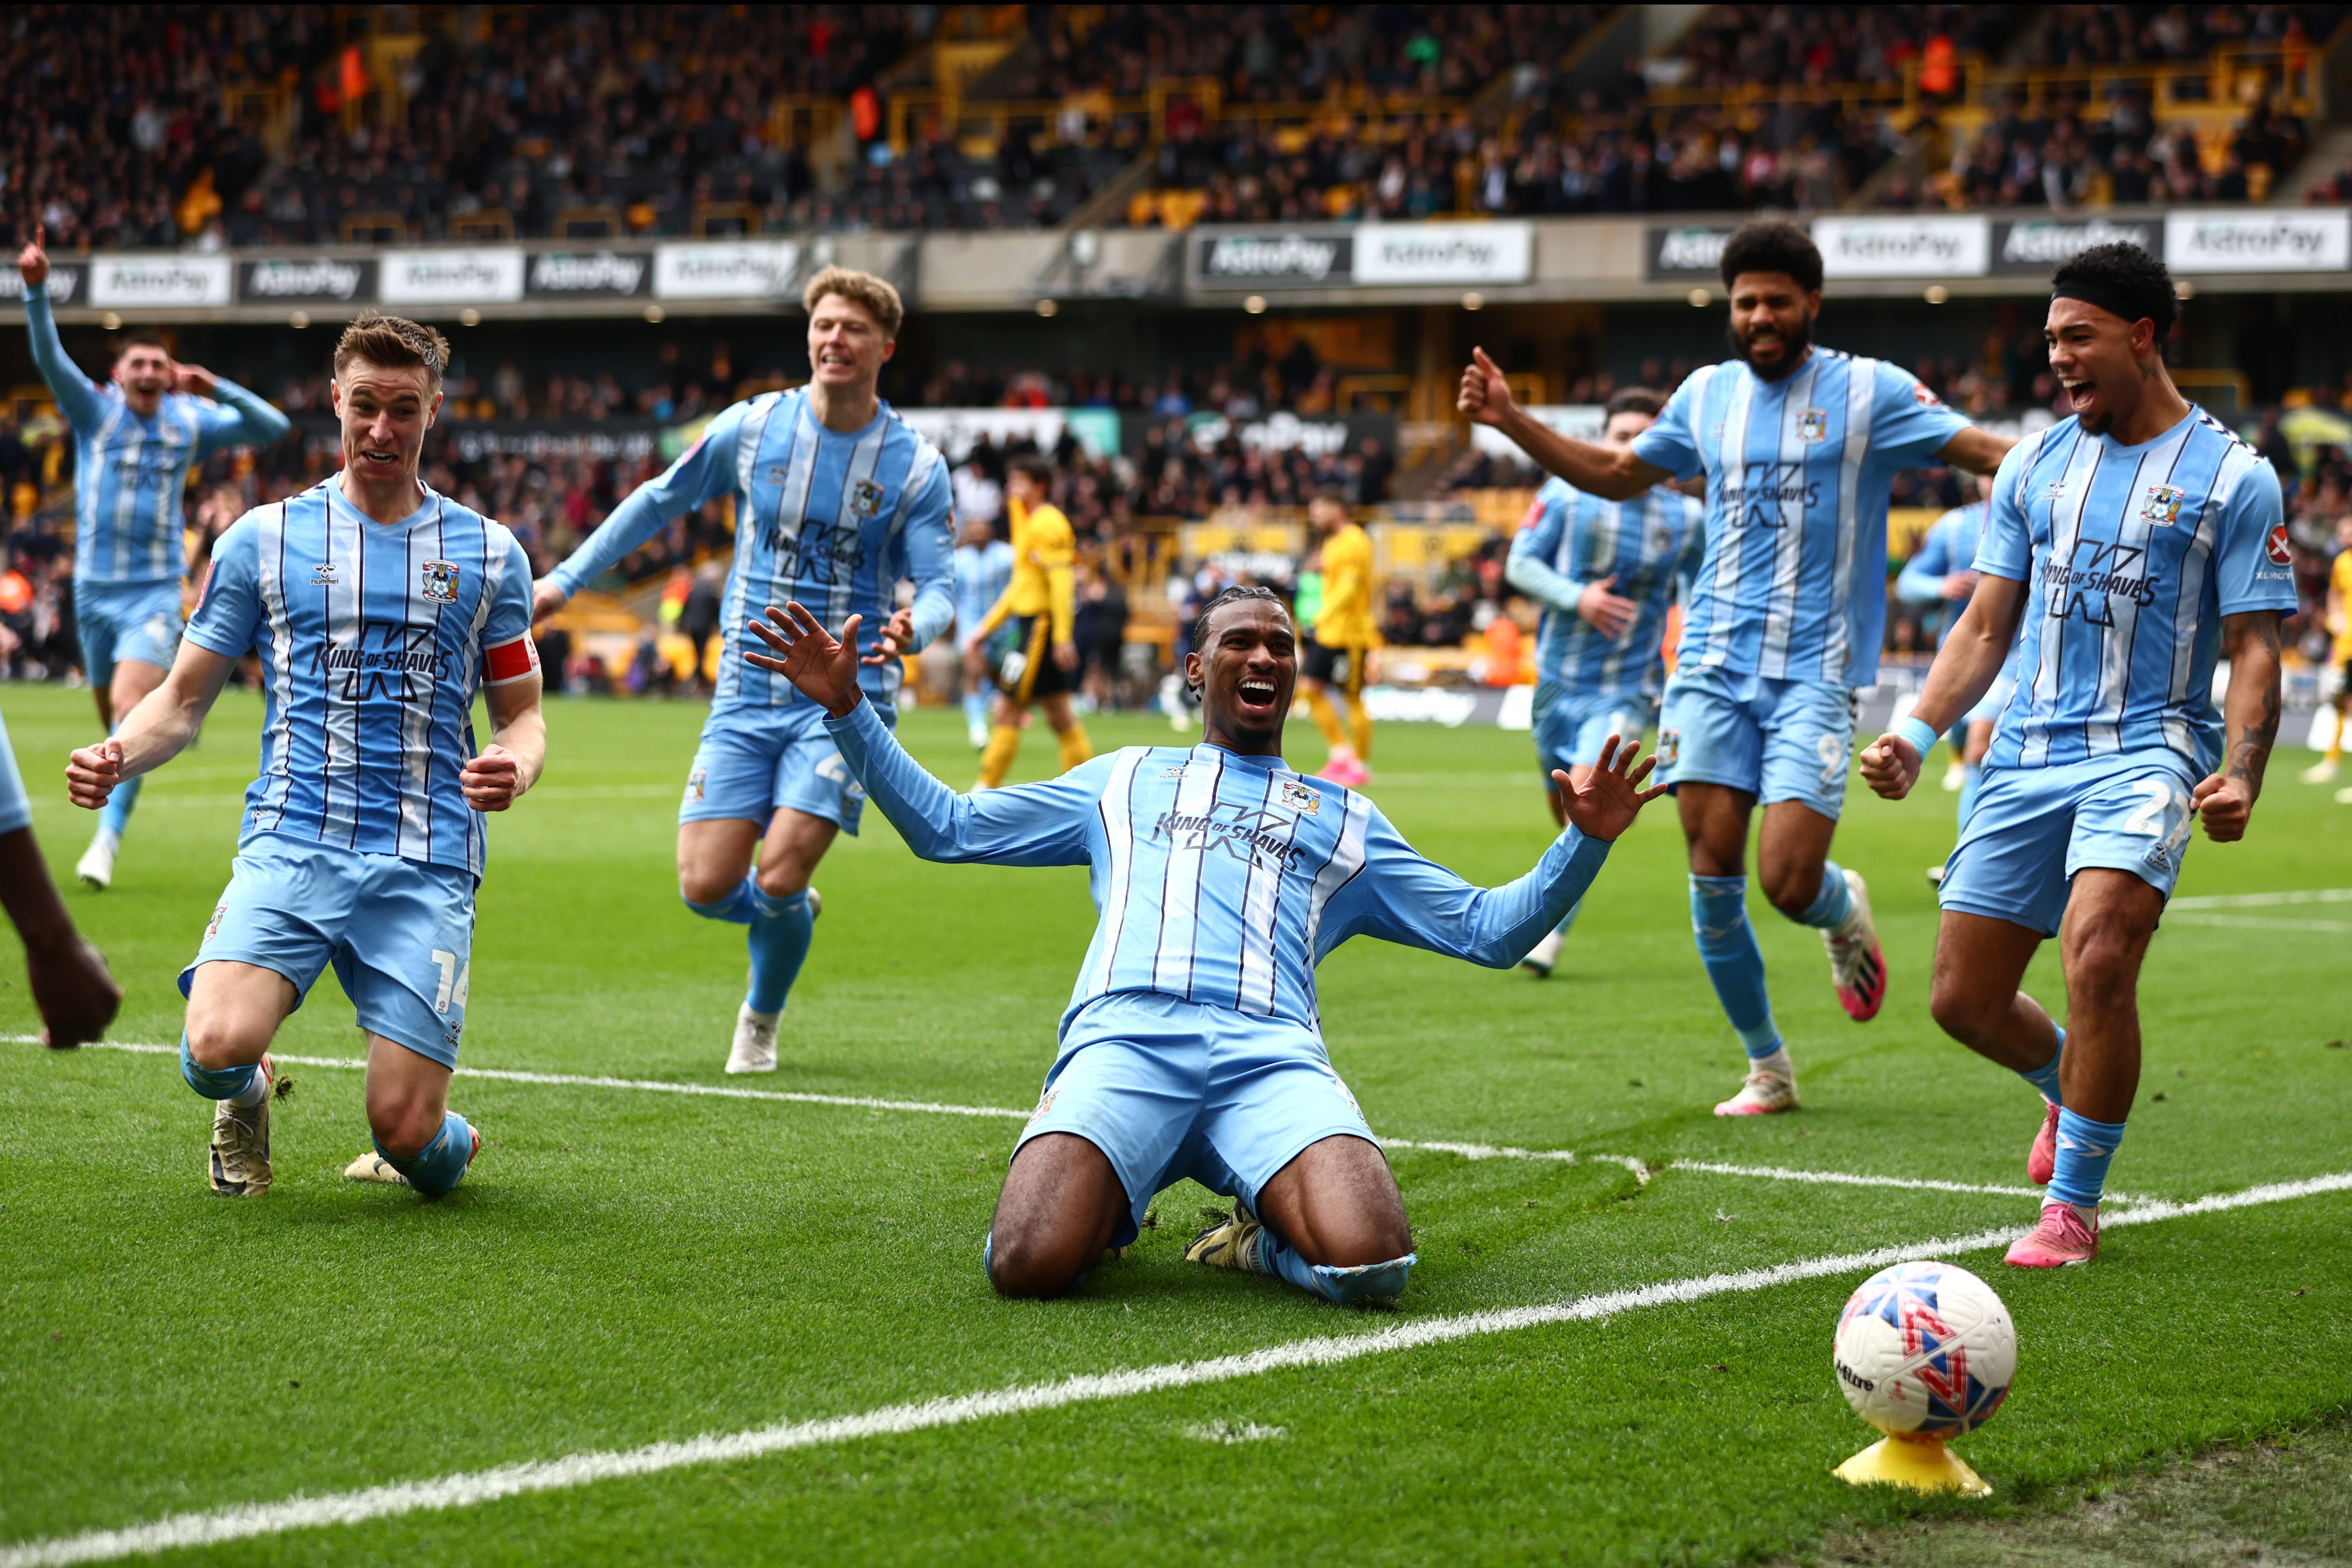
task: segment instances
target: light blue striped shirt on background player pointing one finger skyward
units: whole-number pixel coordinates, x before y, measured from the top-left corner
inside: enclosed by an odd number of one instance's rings
[[[141,418],[113,383],[96,386],[56,339],[47,284],[24,292],[33,364],[73,425],[73,576],[80,583],[174,583],[188,569],[181,494],[188,470],[221,447],[268,447],[294,423],[214,376],[221,400],[165,393]]]

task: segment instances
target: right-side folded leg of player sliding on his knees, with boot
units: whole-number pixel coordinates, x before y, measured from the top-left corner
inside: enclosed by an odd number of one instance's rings
[[[1258,1190],[1256,1213],[1235,1199],[1232,1218],[1200,1232],[1185,1258],[1279,1274],[1327,1300],[1355,1302],[1404,1291],[1414,1234],[1381,1150],[1331,1135],[1310,1143]]]

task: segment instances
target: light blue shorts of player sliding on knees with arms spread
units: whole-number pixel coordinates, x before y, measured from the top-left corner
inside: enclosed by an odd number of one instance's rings
[[[1312,1032],[1150,992],[1103,997],[1070,1020],[1021,1143],[1040,1133],[1077,1133],[1120,1173],[1129,1211],[1112,1246],[1134,1241],[1152,1197],[1183,1178],[1256,1208],[1310,1143],[1381,1143]]]

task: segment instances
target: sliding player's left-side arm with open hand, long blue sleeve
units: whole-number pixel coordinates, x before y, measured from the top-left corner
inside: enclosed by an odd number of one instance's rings
[[[981,865],[1084,865],[1087,825],[1103,795],[1110,759],[1096,757],[1061,778],[957,795],[915,762],[858,686],[858,616],[833,637],[800,604],[767,609],[750,623],[769,654],[743,658],[774,670],[826,710],[826,731],[842,762],[924,860]]]

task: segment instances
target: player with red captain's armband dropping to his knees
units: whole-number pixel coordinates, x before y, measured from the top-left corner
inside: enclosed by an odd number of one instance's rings
[[[416,322],[369,313],[343,331],[343,473],[221,534],[172,672],[66,769],[73,804],[101,809],[176,757],[259,651],[261,776],[228,891],[179,976],[179,1070],[214,1103],[209,1180],[228,1197],[270,1190],[268,1048],[327,964],[367,1032],[376,1147],[348,1175],[440,1197],[482,1145],[449,1110],[480,813],[532,788],[548,731],[522,545],[416,477],[447,364]],[[494,724],[480,755],[477,689]]]

